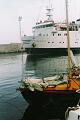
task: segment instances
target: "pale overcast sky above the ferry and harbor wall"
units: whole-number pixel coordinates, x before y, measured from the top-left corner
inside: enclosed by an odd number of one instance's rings
[[[53,20],[64,21],[65,0],[51,0]],[[18,17],[22,16],[21,34],[32,35],[32,27],[46,19],[49,0],[0,0],[0,44],[21,42]],[[68,0],[69,21],[80,18],[80,0]]]

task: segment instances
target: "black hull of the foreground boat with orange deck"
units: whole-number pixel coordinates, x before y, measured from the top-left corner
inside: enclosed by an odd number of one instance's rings
[[[79,95],[75,91],[59,90],[51,92],[27,91],[20,89],[24,99],[34,108],[52,112],[53,117],[64,118],[65,111],[70,106],[76,106]],[[50,111],[51,110],[51,111]],[[57,116],[56,116],[57,115]]]

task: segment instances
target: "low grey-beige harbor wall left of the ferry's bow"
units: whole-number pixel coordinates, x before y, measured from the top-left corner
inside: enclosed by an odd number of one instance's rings
[[[0,44],[0,53],[21,52],[21,43]]]

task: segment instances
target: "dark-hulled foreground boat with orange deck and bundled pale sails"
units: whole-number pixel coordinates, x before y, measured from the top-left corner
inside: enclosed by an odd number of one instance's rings
[[[50,108],[54,117],[57,114],[57,117],[64,118],[66,109],[69,106],[76,106],[79,101],[79,95],[76,93],[76,90],[80,89],[80,78],[78,77],[70,79],[69,83],[63,79],[33,81],[23,81],[19,90],[24,99],[35,109],[48,111]],[[35,81],[37,80],[35,79]]]

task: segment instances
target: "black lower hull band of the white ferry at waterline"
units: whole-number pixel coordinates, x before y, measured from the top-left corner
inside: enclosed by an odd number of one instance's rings
[[[80,48],[72,48],[73,54],[79,54]],[[67,48],[25,48],[27,54],[30,55],[67,55]]]

